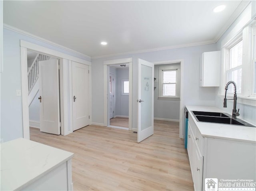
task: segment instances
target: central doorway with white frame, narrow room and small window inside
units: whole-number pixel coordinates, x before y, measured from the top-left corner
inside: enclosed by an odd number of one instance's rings
[[[104,61],[104,126],[132,129],[132,58]]]

